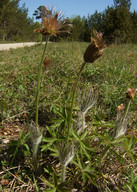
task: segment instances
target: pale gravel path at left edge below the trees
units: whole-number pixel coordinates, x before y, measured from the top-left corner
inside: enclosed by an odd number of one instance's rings
[[[0,51],[5,51],[9,49],[16,49],[19,47],[30,47],[32,45],[38,44],[37,42],[29,42],[29,43],[9,43],[9,44],[0,44]]]

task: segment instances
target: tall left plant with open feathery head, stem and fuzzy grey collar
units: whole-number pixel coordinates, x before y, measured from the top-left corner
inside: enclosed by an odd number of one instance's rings
[[[33,143],[33,162],[34,162],[35,169],[37,168],[37,171],[38,171],[38,166],[36,165],[37,152],[38,152],[38,146],[42,139],[42,133],[38,125],[39,92],[40,92],[40,84],[41,84],[40,82],[41,82],[41,75],[42,75],[42,65],[44,64],[47,67],[51,62],[49,59],[45,57],[45,52],[46,52],[50,37],[56,36],[57,34],[64,33],[64,32],[69,33],[69,29],[65,30],[65,28],[70,27],[70,25],[65,24],[66,21],[62,19],[61,13],[58,13],[53,9],[47,9],[44,6],[41,6],[41,18],[42,18],[42,27],[35,29],[34,32],[40,32],[42,33],[42,35],[46,36],[46,43],[43,49],[43,54],[41,57],[41,62],[39,64],[39,69],[37,74],[37,90],[36,90],[36,97],[35,97],[35,106],[36,106],[35,123],[33,123],[33,126],[31,124],[29,128],[31,132],[32,143]]]

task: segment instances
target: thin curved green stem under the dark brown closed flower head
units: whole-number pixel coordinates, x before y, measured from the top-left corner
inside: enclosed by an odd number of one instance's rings
[[[77,89],[77,86],[78,86],[78,82],[79,82],[79,79],[80,79],[80,76],[81,76],[81,73],[84,69],[84,66],[85,66],[86,62],[83,62],[82,65],[81,65],[81,68],[80,68],[80,71],[78,73],[78,76],[77,76],[77,79],[76,79],[76,82],[74,84],[74,87],[73,87],[73,95],[72,95],[72,102],[71,102],[71,108],[70,108],[70,114],[69,114],[69,119],[68,119],[68,133],[67,133],[67,141],[69,139],[69,134],[70,134],[70,129],[71,129],[71,126],[72,126],[72,112],[73,112],[73,107],[74,107],[74,102],[75,102],[75,96],[76,96],[76,89]]]

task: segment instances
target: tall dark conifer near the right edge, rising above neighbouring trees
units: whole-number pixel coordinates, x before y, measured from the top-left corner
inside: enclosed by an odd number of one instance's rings
[[[114,6],[105,10],[104,35],[108,42],[131,41],[132,21],[130,0],[114,0]]]

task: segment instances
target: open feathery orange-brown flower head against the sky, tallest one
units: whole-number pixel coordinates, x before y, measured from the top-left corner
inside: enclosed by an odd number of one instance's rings
[[[69,30],[63,30],[71,25],[66,24],[66,20],[62,20],[61,13],[55,12],[55,10],[48,10],[42,6],[42,28],[35,29],[34,32],[40,32],[43,35],[56,36],[59,33],[67,32]]]

